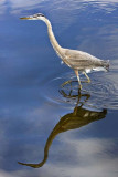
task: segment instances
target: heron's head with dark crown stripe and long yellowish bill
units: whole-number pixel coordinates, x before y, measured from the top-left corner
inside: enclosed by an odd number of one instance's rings
[[[20,19],[21,20],[44,20],[45,15],[42,14],[42,13],[36,13],[36,14],[33,14],[33,15],[23,17],[23,18],[20,18]]]

